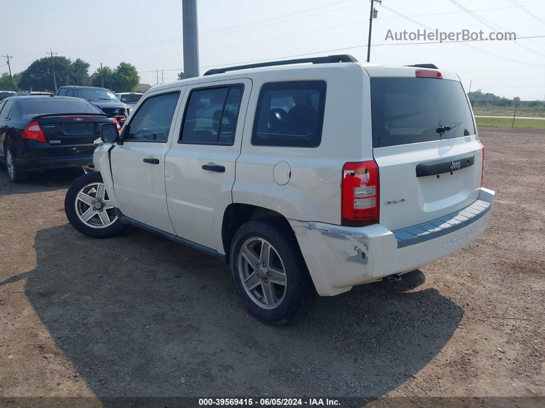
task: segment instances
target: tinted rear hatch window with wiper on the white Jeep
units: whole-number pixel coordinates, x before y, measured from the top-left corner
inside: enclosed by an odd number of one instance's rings
[[[475,135],[458,81],[371,78],[373,147]]]

